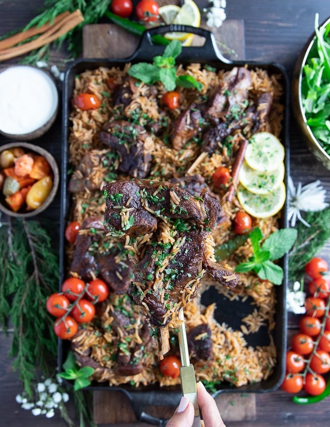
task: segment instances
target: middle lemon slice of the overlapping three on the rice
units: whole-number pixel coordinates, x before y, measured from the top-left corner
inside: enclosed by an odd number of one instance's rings
[[[247,162],[243,162],[238,178],[240,183],[251,193],[266,194],[268,191],[277,189],[284,179],[284,172],[283,162],[272,171],[251,169]]]

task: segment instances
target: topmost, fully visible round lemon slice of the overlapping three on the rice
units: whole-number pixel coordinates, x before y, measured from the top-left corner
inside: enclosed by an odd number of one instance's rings
[[[284,147],[272,133],[258,132],[250,138],[244,158],[252,169],[272,171],[283,162]]]

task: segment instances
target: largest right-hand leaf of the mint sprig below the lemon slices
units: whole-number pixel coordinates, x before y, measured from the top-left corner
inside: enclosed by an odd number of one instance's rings
[[[269,251],[269,260],[278,260],[292,248],[296,239],[296,229],[281,229],[270,234],[261,249]]]

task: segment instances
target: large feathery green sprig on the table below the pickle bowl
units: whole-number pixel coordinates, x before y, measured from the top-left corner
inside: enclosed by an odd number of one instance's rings
[[[46,310],[58,289],[58,258],[49,231],[37,221],[9,219],[0,228],[0,323],[12,345],[10,357],[24,390],[32,395],[37,370],[56,372],[57,337]]]

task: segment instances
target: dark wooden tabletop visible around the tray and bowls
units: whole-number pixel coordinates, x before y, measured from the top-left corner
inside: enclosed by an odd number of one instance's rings
[[[320,22],[329,14],[329,4],[325,0],[227,0],[226,13],[228,18],[243,19],[245,23],[246,59],[268,62],[279,62],[287,69],[289,78],[299,51],[314,30],[314,15],[320,15]],[[0,34],[22,26],[33,18],[43,0],[17,0],[0,2]],[[15,60],[10,61],[15,63]],[[0,64],[0,68],[6,66]],[[1,112],[0,112],[1,114]],[[294,181],[307,184],[319,179],[327,189],[330,199],[330,171],[318,163],[306,148],[297,130],[295,121],[290,120],[290,161],[291,176]],[[47,138],[48,137],[48,138]],[[46,137],[40,138],[40,145],[48,148],[60,162],[60,145],[49,144],[61,140],[61,117]],[[0,144],[8,140],[0,137]],[[39,143],[37,141],[36,143]],[[52,209],[45,215],[59,221],[59,196]],[[319,255],[330,262],[330,242],[320,251]],[[1,267],[0,267],[1,268]],[[288,337],[297,329],[297,316],[289,315]],[[8,357],[11,335],[6,337],[0,331],[0,424],[6,427],[62,427],[66,423],[57,414],[47,420],[34,417],[30,411],[20,409],[15,396],[21,391],[17,375],[11,368]],[[228,427],[318,427],[330,425],[329,399],[309,406],[297,406],[292,403],[289,394],[276,391],[257,394],[257,417],[253,421],[230,422]],[[71,408],[72,409],[72,408]],[[233,408],[234,411],[234,408]],[[136,423],[136,426],[147,426]],[[119,426],[117,424],[117,426]],[[121,424],[121,426],[124,426]]]

